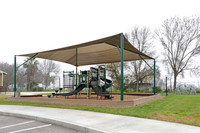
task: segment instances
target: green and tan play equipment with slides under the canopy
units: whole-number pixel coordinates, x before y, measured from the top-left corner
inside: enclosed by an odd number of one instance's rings
[[[107,89],[111,87],[109,91]],[[98,68],[91,67],[89,71],[81,71],[76,74],[73,71],[63,72],[63,88],[70,90],[69,93],[63,93],[62,96],[79,95],[79,93],[87,88],[87,98],[91,96],[91,89],[97,95],[108,99],[112,99],[112,81],[106,79],[105,66]]]

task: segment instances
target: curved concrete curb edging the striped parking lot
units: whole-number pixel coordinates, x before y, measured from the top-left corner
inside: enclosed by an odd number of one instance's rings
[[[102,131],[100,129],[94,129],[94,128],[91,128],[91,127],[85,127],[84,125],[74,124],[72,122],[54,120],[54,119],[25,115],[25,114],[19,114],[19,113],[8,113],[8,112],[0,111],[0,115],[37,120],[37,121],[41,121],[41,122],[59,125],[59,126],[66,127],[66,128],[69,128],[69,129],[73,129],[73,130],[83,132],[83,133],[110,133],[108,131]]]

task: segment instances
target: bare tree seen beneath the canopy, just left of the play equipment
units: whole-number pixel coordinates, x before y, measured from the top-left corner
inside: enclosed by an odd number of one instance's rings
[[[50,73],[53,72],[56,75],[60,72],[60,66],[53,61],[50,60],[43,60],[39,64],[39,70],[41,72],[42,81],[45,85],[45,90],[50,85],[50,83],[55,82],[55,77],[50,77]]]

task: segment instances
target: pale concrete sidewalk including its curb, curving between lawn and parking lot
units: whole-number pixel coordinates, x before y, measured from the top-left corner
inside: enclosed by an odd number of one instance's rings
[[[200,133],[200,127],[71,109],[0,105],[0,114],[30,118],[84,133]]]

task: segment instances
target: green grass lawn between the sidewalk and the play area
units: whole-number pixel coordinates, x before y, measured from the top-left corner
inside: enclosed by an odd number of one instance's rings
[[[164,96],[164,94],[162,95]],[[63,106],[30,102],[10,102],[6,101],[6,99],[7,96],[0,95],[0,104],[78,109],[200,126],[200,95],[175,96],[173,94],[170,94],[169,96],[164,97],[161,100],[157,100],[142,106],[127,108]]]

